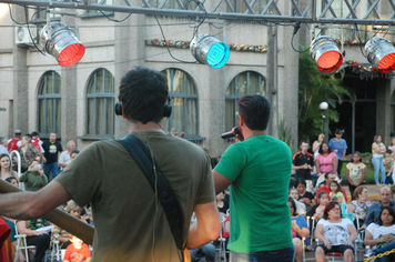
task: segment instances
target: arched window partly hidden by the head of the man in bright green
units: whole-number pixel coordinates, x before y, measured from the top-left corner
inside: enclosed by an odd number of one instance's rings
[[[237,100],[244,94],[265,94],[266,82],[263,75],[245,71],[239,73],[226,89],[225,97],[225,130],[231,130],[237,123]]]

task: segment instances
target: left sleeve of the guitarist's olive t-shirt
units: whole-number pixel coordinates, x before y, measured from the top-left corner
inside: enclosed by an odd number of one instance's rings
[[[80,206],[87,205],[98,196],[103,163],[100,150],[102,149],[97,143],[92,143],[55,178]]]

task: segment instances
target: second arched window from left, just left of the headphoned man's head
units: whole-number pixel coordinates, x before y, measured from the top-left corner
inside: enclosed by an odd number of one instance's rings
[[[114,77],[107,69],[97,69],[87,89],[87,135],[114,134]]]

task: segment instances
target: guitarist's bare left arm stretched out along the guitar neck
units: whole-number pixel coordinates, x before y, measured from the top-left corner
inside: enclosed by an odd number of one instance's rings
[[[38,192],[0,194],[0,214],[19,220],[40,218],[71,199],[58,181],[52,181]]]

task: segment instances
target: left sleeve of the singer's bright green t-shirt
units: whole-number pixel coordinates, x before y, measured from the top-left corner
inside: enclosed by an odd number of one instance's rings
[[[215,171],[223,177],[234,181],[242,173],[245,167],[245,154],[242,154],[240,144],[232,144],[222,154],[220,163],[215,167]]]

